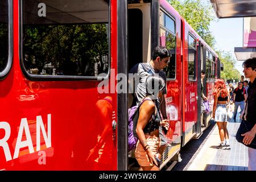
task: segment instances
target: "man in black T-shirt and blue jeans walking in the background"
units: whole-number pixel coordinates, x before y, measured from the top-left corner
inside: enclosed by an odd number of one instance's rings
[[[245,108],[245,101],[246,101],[246,90],[243,88],[243,83],[238,82],[238,87],[234,89],[233,92],[233,102],[234,102],[234,122],[236,122],[237,117],[237,109],[240,106],[241,112]]]

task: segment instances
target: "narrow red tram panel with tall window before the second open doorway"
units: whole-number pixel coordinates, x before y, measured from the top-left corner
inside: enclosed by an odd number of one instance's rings
[[[199,64],[197,58],[196,35],[189,29],[187,23],[184,27],[184,118],[183,118],[183,146],[196,135],[197,131],[197,102],[198,102],[198,82]],[[199,67],[200,68],[200,67]]]

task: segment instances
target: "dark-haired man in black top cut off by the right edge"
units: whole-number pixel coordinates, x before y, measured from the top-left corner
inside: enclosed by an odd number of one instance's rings
[[[249,78],[250,82],[247,90],[248,98],[242,119],[252,123],[254,127],[245,134],[242,134],[242,136],[245,136],[243,143],[250,144],[256,134],[256,57],[243,62],[243,73],[245,73],[246,78]],[[256,149],[248,147],[248,159],[249,171],[256,171]]]

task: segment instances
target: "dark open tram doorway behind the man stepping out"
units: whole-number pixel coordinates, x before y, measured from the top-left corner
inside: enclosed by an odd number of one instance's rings
[[[127,72],[129,73],[138,63],[147,63],[151,59],[151,3],[128,1],[127,15]],[[129,93],[128,108],[133,104],[133,98],[134,94]],[[139,169],[134,152],[135,150],[128,152],[127,169],[132,171]]]

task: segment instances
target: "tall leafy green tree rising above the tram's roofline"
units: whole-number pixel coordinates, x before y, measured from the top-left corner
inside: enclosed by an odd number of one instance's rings
[[[172,7],[188,22],[188,24],[213,47],[215,40],[209,31],[210,22],[214,19],[213,9],[210,3],[200,0],[168,0]]]

